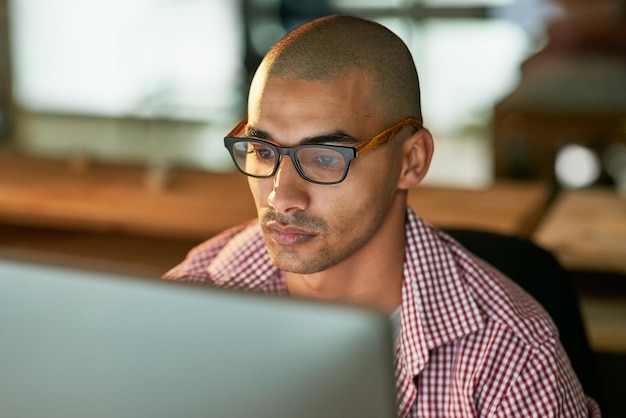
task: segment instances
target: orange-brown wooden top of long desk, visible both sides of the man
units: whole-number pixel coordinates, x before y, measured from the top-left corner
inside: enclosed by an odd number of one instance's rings
[[[422,186],[409,204],[444,227],[527,235],[548,202],[537,183],[484,189]],[[245,176],[176,170],[151,188],[141,167],[91,164],[0,153],[0,222],[90,232],[200,240],[256,216]]]

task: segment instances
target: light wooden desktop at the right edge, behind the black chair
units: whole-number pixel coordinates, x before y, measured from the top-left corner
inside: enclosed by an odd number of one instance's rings
[[[608,188],[563,192],[534,239],[570,270],[626,274],[626,197]]]

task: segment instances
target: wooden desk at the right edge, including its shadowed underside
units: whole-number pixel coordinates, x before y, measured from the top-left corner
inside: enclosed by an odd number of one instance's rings
[[[604,188],[563,192],[533,238],[578,278],[592,347],[626,352],[626,197]]]

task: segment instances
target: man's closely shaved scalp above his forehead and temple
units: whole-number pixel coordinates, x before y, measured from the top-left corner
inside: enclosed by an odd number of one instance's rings
[[[253,83],[272,77],[330,82],[355,71],[372,80],[373,105],[389,124],[409,116],[422,120],[411,53],[397,35],[369,20],[328,16],[295,28],[269,50]]]

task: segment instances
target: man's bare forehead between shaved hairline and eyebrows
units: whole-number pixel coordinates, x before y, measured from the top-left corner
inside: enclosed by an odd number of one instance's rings
[[[382,123],[372,91],[371,77],[364,72],[329,81],[255,77],[248,100],[249,126],[279,142],[329,131],[361,137]]]

